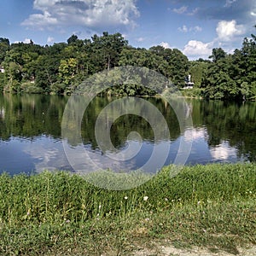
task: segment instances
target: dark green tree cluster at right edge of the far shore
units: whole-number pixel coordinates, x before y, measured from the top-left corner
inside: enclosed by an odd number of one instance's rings
[[[205,96],[219,100],[255,100],[256,39],[244,38],[241,49],[227,55],[223,49],[212,49],[212,63],[203,74],[201,87]]]

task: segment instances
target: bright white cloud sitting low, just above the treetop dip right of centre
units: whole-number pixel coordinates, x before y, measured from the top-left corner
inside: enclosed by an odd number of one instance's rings
[[[212,43],[190,40],[183,49],[183,54],[188,56],[209,56],[212,53]]]

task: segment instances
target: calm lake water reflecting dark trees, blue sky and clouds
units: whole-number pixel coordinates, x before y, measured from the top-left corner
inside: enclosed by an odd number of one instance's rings
[[[67,101],[68,96],[0,95],[0,172],[72,170],[61,138],[61,120]],[[154,141],[154,131],[145,119],[126,114],[111,126],[113,150],[98,146],[94,129],[99,113],[111,101],[97,97],[90,103],[81,125],[82,145],[75,140],[67,140],[70,148],[86,148],[90,158],[101,163],[102,167],[116,171],[136,170],[150,158],[154,148],[160,155],[166,145],[170,146],[166,165],[171,164],[180,141],[187,139],[187,131],[193,136],[186,161],[188,165],[256,161],[256,102],[226,104],[187,100],[193,126],[180,131],[172,108],[161,99],[149,98],[148,102],[164,115],[170,139]],[[137,131],[141,139],[127,138],[131,131]],[[122,152],[128,143],[140,149],[131,160],[109,160],[109,154]]]

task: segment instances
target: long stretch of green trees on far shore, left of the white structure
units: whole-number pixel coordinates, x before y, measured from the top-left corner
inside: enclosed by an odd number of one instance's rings
[[[135,49],[128,46],[128,41],[120,33],[103,32],[102,36],[94,35],[84,40],[72,35],[67,44],[52,46],[32,42],[9,45],[7,38],[0,38],[0,49],[0,64],[5,69],[0,90],[15,93],[70,94],[90,75],[127,65],[148,67],[173,83],[183,84],[189,65],[187,57],[178,49],[163,49],[163,53],[154,48]],[[120,84],[113,94],[153,94],[139,84],[128,84]]]

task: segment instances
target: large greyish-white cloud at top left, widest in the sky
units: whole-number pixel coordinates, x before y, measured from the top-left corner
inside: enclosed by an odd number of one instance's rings
[[[135,26],[136,0],[34,0],[34,9],[21,25],[39,29],[53,26]]]

